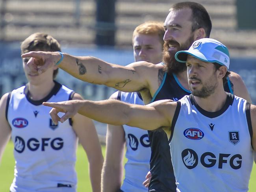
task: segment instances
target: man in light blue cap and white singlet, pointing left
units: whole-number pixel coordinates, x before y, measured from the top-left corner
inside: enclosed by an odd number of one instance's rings
[[[80,113],[113,125],[163,129],[169,138],[178,192],[247,192],[256,149],[256,106],[224,91],[228,49],[205,38],[193,42],[189,50],[177,52],[175,58],[186,63],[192,92],[177,102],[159,100],[142,106],[118,100],[71,100],[43,104],[53,107],[50,115],[55,123]],[[58,112],[65,115],[59,117]]]

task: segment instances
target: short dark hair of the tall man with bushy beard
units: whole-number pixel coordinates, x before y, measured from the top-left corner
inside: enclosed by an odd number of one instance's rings
[[[169,11],[184,8],[189,8],[192,11],[192,32],[199,28],[204,28],[206,37],[209,38],[211,33],[211,18],[204,6],[196,2],[180,2],[174,4]]]

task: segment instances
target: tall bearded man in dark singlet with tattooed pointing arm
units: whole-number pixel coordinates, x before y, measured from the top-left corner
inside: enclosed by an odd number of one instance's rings
[[[178,100],[191,92],[187,81],[186,65],[177,63],[174,55],[179,50],[187,50],[193,41],[209,37],[211,20],[201,4],[180,2],[171,7],[164,26],[166,30],[163,39],[165,41],[164,66],[142,61],[120,66],[95,57],[74,57],[69,54],[63,54],[61,57],[59,53],[46,52],[30,52],[22,57],[33,57],[28,62],[28,66],[35,74],[44,72],[49,66],[56,65],[63,58],[58,66],[72,76],[125,92],[139,91],[145,104],[163,99]],[[249,93],[241,77],[231,72],[229,79],[229,83],[224,83],[225,90],[250,101]],[[161,129],[149,132],[149,138],[152,174],[149,191],[176,192],[173,168],[169,161],[168,139]],[[145,185],[148,185],[148,181]]]

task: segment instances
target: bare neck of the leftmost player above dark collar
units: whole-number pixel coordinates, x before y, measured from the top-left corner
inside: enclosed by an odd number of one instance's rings
[[[30,92],[31,99],[38,101],[45,98],[51,92],[54,85],[54,81],[43,82],[40,85],[28,83],[28,91]]]

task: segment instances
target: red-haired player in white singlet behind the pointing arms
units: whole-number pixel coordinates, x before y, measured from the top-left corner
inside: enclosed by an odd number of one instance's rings
[[[161,22],[145,22],[137,26],[133,32],[132,44],[134,60],[158,64],[162,61],[163,35],[165,30]],[[139,92],[113,93],[110,99],[144,105]],[[124,165],[123,154],[128,159]],[[106,136],[106,158],[102,169],[102,192],[147,192],[143,186],[145,175],[150,170],[150,143],[148,132],[137,127],[113,126],[108,124]],[[122,185],[121,185],[122,184]]]

